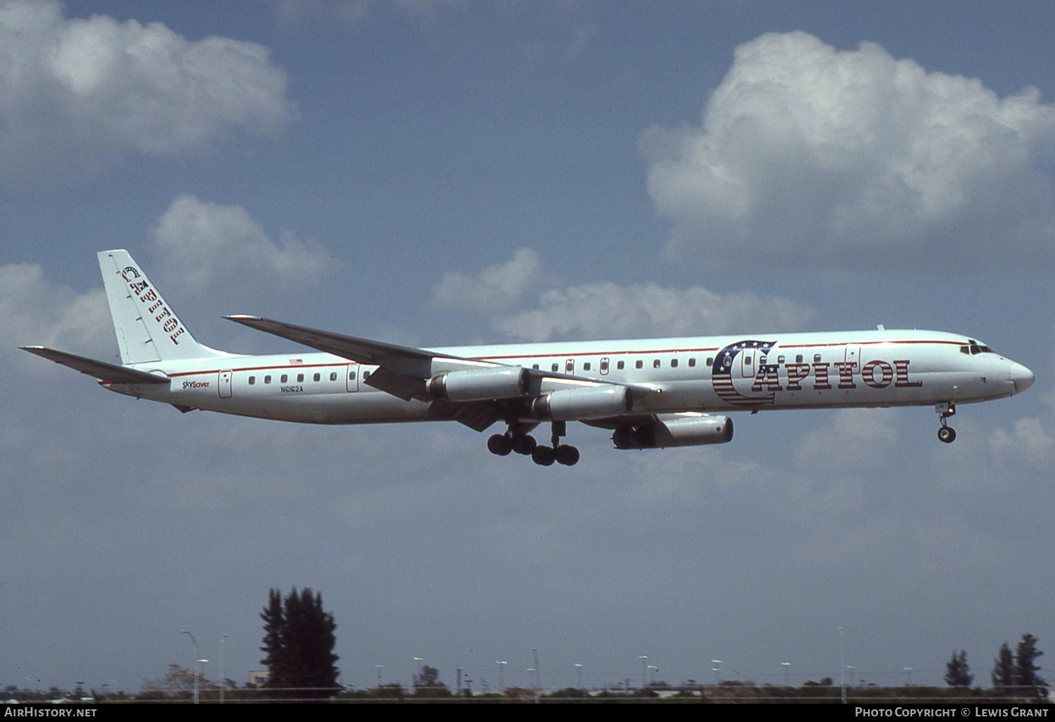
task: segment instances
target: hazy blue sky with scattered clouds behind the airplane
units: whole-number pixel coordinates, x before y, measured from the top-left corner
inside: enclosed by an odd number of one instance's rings
[[[260,669],[320,591],[341,680],[989,684],[1055,654],[1048,2],[0,2],[0,685]],[[114,360],[95,253],[195,337],[414,346],[931,328],[1021,396],[737,415],[574,468],[455,423],[179,414]],[[840,629],[841,628],[841,629]],[[1055,681],[1048,657],[1039,661]],[[789,662],[790,667],[782,666]],[[378,666],[381,665],[381,666]],[[906,671],[906,667],[912,671]],[[103,687],[106,685],[106,687]]]

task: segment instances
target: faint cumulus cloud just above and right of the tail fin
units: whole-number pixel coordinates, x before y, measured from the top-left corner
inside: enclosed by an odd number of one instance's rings
[[[326,249],[290,232],[275,241],[241,206],[206,203],[184,193],[151,229],[167,276],[189,290],[241,287],[296,290],[318,282],[332,261]]]

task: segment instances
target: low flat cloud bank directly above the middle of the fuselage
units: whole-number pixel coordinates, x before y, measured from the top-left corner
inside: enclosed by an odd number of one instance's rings
[[[786,331],[813,316],[803,304],[751,291],[610,281],[561,285],[542,272],[529,248],[477,276],[448,272],[433,296],[442,308],[492,316],[497,330],[518,341]]]

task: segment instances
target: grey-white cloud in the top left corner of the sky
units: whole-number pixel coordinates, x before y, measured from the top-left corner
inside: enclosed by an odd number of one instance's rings
[[[290,118],[285,92],[285,73],[252,42],[66,19],[49,0],[0,4],[0,175],[52,177],[127,152],[268,134]]]

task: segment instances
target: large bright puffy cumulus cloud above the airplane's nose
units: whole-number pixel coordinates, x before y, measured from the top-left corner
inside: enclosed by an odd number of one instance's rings
[[[740,45],[699,126],[641,137],[668,251],[741,264],[1055,260],[1055,106],[864,42]]]

